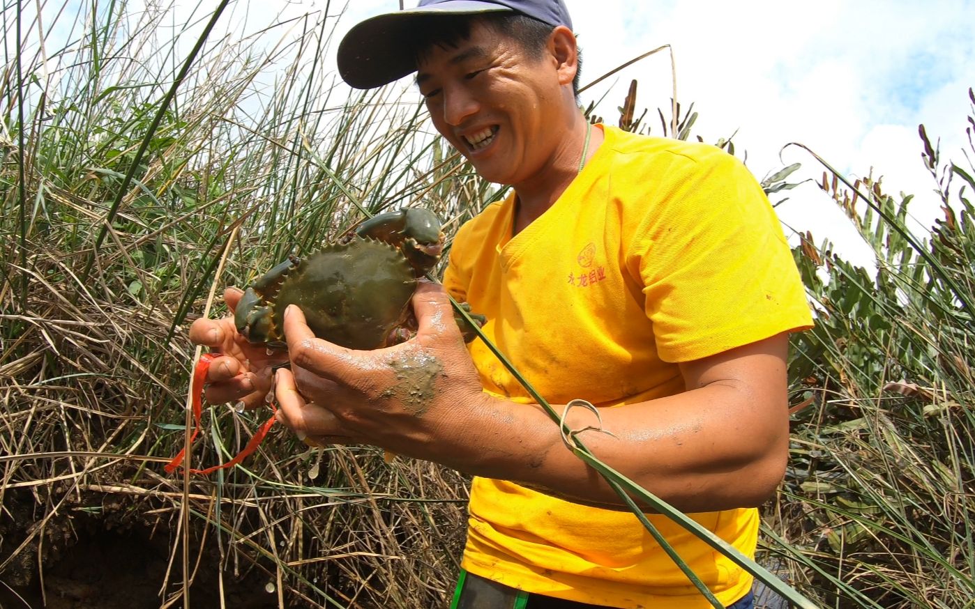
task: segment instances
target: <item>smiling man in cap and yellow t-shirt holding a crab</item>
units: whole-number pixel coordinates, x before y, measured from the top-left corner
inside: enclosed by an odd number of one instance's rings
[[[566,419],[611,434],[579,435],[597,456],[754,553],[754,507],[787,456],[788,332],[811,324],[754,177],[714,147],[590,126],[561,0],[424,0],[355,26],[338,62],[360,88],[415,71],[437,130],[512,186],[458,232],[447,290],[547,400],[600,406],[601,423]],[[315,338],[290,308],[276,393],[299,437],[477,476],[455,606],[709,607],[484,344],[468,351],[444,288],[422,285],[413,306],[416,337],[372,352]],[[191,337],[228,356],[209,400],[266,391],[228,322]],[[722,604],[752,605],[747,574],[649,517]]]

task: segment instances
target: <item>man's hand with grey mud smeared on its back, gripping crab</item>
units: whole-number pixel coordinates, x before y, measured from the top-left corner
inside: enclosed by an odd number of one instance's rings
[[[316,338],[301,310],[289,307],[284,329],[292,370],[277,373],[278,419],[298,438],[368,443],[442,463],[451,444],[470,445],[476,432],[464,425],[465,412],[487,407],[487,398],[447,292],[421,282],[412,306],[416,335],[374,351]]]

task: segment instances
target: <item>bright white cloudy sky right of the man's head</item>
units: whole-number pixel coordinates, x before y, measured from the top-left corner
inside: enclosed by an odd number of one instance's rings
[[[738,129],[760,177],[801,162],[801,175],[822,168],[800,141],[841,171],[883,175],[890,194],[913,193],[918,220],[940,213],[933,182],[920,161],[917,125],[941,137],[946,157],[960,159],[975,85],[975,7],[966,0],[933,2],[823,0],[782,3],[566,0],[585,54],[583,81],[661,44],[675,49],[678,95],[700,112],[696,132],[717,140]],[[651,57],[621,74],[604,107],[612,116],[631,78],[641,105],[655,114],[671,95],[670,67]],[[652,121],[660,133],[658,120]],[[814,185],[790,193],[780,215],[844,255],[868,252],[845,216]]]

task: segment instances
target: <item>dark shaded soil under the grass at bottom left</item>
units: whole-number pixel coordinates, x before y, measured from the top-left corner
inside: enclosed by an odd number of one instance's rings
[[[35,537],[0,572],[0,609],[151,609],[178,595],[182,580],[178,550],[165,593],[162,592],[175,545],[175,522],[171,526],[169,521],[173,514],[147,518],[144,514],[149,509],[144,502],[136,510],[133,503],[106,503],[110,500],[101,498],[100,503],[93,504],[98,498],[86,499],[88,506],[100,508],[76,508],[66,516],[50,519],[43,539]],[[35,526],[35,517],[43,515],[43,506],[37,506],[33,496],[15,496],[9,491],[4,496],[4,508],[5,513],[0,516],[0,562],[7,560],[26,539]],[[200,543],[199,538],[191,542],[191,568]],[[213,531],[204,543],[190,586],[190,605],[218,608],[221,603],[217,569],[221,561]],[[240,577],[234,575],[233,561],[224,570],[222,606],[278,607],[273,574],[245,564],[247,560],[239,562]],[[182,606],[181,600],[170,605],[175,609]],[[303,603],[288,606],[308,607]]]

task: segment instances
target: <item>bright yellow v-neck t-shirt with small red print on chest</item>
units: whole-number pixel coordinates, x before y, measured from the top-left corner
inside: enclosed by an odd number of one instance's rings
[[[677,362],[811,325],[778,219],[740,162],[603,129],[586,168],[525,230],[512,238],[512,195],[450,250],[444,284],[487,316],[487,336],[541,395],[604,407],[674,395]],[[484,343],[470,350],[485,391],[531,401]],[[690,515],[754,554],[757,510]],[[747,593],[747,573],[666,516],[649,518],[725,605]],[[587,603],[710,607],[633,514],[504,480],[474,479],[462,566]]]

